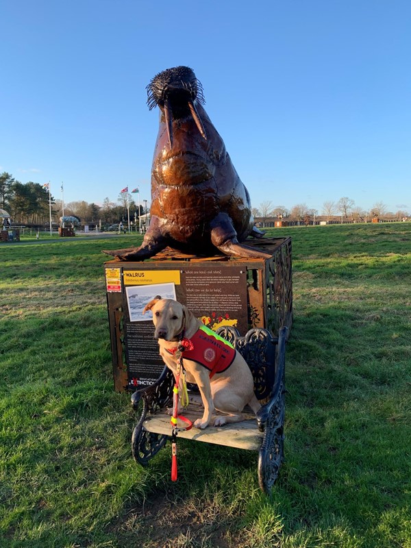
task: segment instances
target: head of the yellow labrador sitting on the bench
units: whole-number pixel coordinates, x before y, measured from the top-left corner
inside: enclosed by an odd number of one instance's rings
[[[160,295],[157,295],[146,304],[142,313],[144,314],[147,310],[153,312],[155,339],[179,340],[179,335],[182,334],[186,325],[185,306],[173,299],[162,299]]]

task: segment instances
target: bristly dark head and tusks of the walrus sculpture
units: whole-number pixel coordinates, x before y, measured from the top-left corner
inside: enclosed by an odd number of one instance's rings
[[[191,114],[199,132],[207,139],[203,123],[195,108],[198,101],[203,104],[203,86],[194,71],[188,66],[175,66],[153,77],[147,86],[147,105],[153,109],[158,105],[164,111],[170,148],[173,147],[173,119]]]

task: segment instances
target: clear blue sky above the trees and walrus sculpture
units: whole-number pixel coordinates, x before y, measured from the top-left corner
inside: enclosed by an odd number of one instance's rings
[[[252,205],[411,212],[409,0],[2,0],[0,171],[150,199],[145,87],[190,66]]]

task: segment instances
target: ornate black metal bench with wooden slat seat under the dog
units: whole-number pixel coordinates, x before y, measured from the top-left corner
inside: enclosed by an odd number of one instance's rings
[[[257,419],[247,408],[247,420],[223,427],[209,426],[179,432],[180,438],[258,451],[258,481],[270,493],[284,460],[284,392],[287,327],[275,338],[266,329],[250,329],[244,337],[234,327],[220,327],[217,333],[231,342],[242,354],[253,373],[254,391],[262,403]],[[155,384],[132,395],[132,404],[140,412],[132,436],[132,453],[136,462],[146,466],[171,437],[170,415],[165,413],[173,402],[173,374],[164,368]],[[195,421],[201,416],[201,398],[189,393],[190,404],[184,416]]]

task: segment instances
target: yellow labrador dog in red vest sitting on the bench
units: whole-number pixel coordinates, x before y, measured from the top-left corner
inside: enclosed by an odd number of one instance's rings
[[[158,340],[160,356],[174,375],[178,360],[175,352],[184,346],[187,382],[197,384],[204,405],[203,416],[195,421],[195,427],[206,428],[214,410],[225,413],[214,421],[214,426],[222,426],[243,421],[242,410],[247,403],[255,413],[260,409],[249,366],[232,345],[173,299],[155,297],[143,313],[147,310],[153,312],[154,338]],[[182,390],[182,386],[179,388]]]

